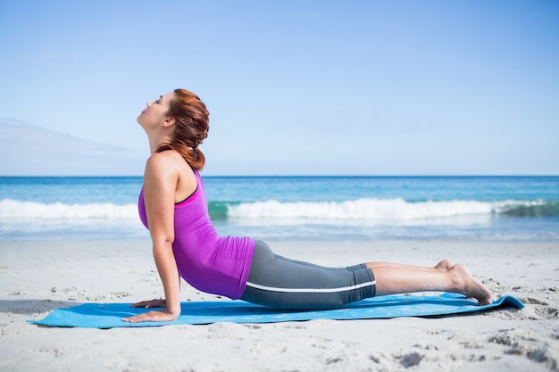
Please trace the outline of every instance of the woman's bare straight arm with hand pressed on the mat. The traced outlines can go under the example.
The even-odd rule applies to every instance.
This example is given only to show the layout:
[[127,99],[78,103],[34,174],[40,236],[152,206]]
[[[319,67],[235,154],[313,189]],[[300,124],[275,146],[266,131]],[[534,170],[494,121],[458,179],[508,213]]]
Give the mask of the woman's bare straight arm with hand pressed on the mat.
[[147,161],[144,175],[144,202],[147,224],[153,242],[155,266],[163,282],[167,308],[154,310],[124,321],[171,321],[180,315],[180,283],[177,263],[172,252],[174,241],[175,191],[179,169],[171,152],[154,153]]

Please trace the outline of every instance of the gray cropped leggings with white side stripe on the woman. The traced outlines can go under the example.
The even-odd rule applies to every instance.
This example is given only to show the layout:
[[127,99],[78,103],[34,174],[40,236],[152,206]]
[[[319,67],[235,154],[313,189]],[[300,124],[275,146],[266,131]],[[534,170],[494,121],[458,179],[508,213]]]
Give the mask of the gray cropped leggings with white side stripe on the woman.
[[289,260],[256,241],[242,300],[280,309],[333,309],[375,295],[365,264],[326,268]]

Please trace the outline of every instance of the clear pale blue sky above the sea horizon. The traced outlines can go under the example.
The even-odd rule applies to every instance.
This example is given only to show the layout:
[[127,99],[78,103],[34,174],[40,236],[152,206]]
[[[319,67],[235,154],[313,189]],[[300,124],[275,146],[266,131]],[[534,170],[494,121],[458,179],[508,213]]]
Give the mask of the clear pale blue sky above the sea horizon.
[[0,176],[141,176],[177,87],[206,175],[559,174],[555,0],[3,0]]

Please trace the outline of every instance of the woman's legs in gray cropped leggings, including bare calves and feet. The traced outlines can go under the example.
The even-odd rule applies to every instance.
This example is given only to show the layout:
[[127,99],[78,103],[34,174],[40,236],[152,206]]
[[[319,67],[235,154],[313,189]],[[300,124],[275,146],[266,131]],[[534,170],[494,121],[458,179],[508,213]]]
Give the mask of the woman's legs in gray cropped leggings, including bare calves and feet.
[[[355,285],[356,291],[344,289]],[[463,264],[450,260],[433,268],[369,262],[331,269],[277,256],[263,242],[256,244],[242,298],[272,307],[310,309],[337,307],[373,295],[428,291],[462,293],[475,297],[480,305],[493,300],[491,291]]]

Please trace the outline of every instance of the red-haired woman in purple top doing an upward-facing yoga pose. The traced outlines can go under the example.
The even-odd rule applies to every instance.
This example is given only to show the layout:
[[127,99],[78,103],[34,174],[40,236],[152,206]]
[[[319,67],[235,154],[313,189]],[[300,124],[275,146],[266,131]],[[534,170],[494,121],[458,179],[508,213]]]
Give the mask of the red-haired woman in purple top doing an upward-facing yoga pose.
[[283,309],[329,309],[374,295],[444,291],[492,302],[492,293],[463,264],[443,260],[434,268],[368,262],[324,268],[275,255],[249,237],[221,237],[207,212],[198,146],[209,129],[209,112],[197,95],[176,89],[148,102],[138,116],[151,156],[139,197],[149,229],[164,300],[132,306],[161,307],[128,322],[172,321],[180,314],[179,277],[206,293]]

